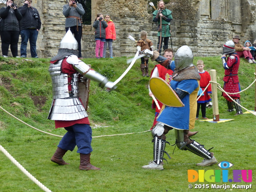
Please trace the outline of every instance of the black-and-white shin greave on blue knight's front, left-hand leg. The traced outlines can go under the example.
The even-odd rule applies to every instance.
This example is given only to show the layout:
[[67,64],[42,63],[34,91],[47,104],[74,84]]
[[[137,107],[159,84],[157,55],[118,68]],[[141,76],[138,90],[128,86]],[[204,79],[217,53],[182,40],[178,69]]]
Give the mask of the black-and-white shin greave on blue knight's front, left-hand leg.
[[154,142],[154,162],[156,164],[159,165],[163,162],[163,160],[166,160],[164,158],[164,153],[166,153],[166,155],[170,158],[169,154],[165,151],[166,140],[162,140],[155,136],[152,142]]

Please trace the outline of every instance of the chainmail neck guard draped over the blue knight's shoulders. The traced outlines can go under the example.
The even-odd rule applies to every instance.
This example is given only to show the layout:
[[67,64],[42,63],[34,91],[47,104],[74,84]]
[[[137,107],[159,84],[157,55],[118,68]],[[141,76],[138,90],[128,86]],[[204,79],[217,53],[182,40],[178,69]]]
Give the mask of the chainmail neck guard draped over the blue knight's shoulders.
[[195,66],[188,66],[180,71],[175,69],[172,75],[172,79],[175,81],[182,81],[187,79],[200,80],[200,78],[201,77]]

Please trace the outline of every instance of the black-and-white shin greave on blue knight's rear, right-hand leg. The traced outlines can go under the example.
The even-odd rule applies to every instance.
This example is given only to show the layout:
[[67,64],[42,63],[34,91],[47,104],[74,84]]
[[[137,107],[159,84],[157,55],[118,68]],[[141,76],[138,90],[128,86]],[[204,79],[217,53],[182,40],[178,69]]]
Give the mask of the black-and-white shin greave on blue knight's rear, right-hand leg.
[[204,159],[211,159],[212,154],[204,148],[203,145],[200,145],[198,142],[194,141],[191,144],[187,145],[185,150],[189,150],[192,153],[204,158]]

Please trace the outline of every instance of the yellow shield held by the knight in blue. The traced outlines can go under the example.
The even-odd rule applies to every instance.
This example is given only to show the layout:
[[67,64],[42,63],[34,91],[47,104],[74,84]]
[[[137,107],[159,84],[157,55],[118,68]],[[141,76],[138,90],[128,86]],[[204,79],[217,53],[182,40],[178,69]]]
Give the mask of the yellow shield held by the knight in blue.
[[149,87],[154,96],[163,104],[170,107],[184,107],[184,104],[172,90],[170,85],[160,77],[152,77]]

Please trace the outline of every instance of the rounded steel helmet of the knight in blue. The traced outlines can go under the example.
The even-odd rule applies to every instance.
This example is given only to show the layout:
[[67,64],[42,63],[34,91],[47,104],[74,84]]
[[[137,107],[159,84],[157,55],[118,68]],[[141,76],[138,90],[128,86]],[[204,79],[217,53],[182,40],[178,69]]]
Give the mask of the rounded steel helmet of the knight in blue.
[[193,52],[188,46],[180,47],[174,55],[176,70],[180,71],[188,66],[193,66],[193,58]]

